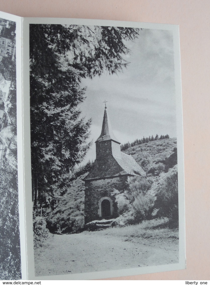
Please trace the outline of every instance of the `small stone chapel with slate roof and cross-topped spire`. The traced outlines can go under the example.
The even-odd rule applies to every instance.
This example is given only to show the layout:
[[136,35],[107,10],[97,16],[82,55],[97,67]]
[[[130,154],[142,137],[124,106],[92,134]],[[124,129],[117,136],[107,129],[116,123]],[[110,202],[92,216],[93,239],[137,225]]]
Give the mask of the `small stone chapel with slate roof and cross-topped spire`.
[[[106,103],[105,103],[106,104]],[[114,136],[105,105],[102,131],[96,144],[96,160],[83,179],[85,181],[85,224],[118,217],[118,206],[113,192],[123,193],[129,179],[146,176],[131,155],[121,152]]]

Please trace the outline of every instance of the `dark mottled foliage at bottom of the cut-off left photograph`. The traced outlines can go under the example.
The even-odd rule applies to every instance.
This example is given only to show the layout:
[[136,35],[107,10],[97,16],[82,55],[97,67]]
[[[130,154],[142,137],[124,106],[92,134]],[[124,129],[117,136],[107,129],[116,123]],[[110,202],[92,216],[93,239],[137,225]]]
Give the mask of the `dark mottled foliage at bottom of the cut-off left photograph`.
[[3,161],[0,173],[0,279],[21,279],[17,169]]

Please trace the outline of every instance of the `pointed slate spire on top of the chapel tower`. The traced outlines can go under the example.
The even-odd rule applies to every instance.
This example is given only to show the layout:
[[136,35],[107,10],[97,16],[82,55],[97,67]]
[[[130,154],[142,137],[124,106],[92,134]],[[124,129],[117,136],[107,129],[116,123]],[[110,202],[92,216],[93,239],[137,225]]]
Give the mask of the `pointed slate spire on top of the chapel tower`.
[[102,130],[101,130],[101,134],[100,137],[96,140],[96,142],[99,141],[108,141],[108,140],[112,140],[115,141],[116,143],[120,143],[116,137],[114,136],[113,132],[112,132],[112,127],[109,121],[109,117],[108,117],[108,113],[107,113],[107,108],[105,106],[105,110],[104,110],[104,119],[103,119],[103,123],[102,123]]

